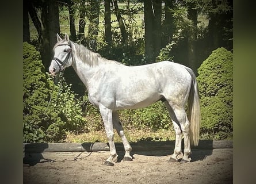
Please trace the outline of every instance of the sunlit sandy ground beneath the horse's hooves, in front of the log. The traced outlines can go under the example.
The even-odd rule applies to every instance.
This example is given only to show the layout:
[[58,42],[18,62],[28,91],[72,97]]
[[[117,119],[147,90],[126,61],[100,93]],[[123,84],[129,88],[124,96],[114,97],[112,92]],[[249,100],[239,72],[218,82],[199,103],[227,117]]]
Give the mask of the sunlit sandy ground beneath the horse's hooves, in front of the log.
[[192,162],[169,163],[171,151],[132,152],[114,166],[102,152],[24,153],[24,183],[232,183],[233,149],[192,150]]

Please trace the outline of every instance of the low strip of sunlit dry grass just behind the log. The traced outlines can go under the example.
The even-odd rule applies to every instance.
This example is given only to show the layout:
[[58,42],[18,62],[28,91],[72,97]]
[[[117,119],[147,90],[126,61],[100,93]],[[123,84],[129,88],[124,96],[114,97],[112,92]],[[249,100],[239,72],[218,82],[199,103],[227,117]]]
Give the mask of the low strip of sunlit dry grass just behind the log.
[[[128,130],[125,132],[127,140],[132,142],[137,141],[167,141],[175,140],[174,131],[159,130],[152,132],[150,130]],[[74,133],[68,133],[66,137],[67,143],[95,143],[102,142],[107,143],[108,139],[106,138],[105,131],[94,131],[88,133],[81,133],[75,135]],[[121,143],[121,139],[116,131],[114,131],[114,141],[116,143]]]

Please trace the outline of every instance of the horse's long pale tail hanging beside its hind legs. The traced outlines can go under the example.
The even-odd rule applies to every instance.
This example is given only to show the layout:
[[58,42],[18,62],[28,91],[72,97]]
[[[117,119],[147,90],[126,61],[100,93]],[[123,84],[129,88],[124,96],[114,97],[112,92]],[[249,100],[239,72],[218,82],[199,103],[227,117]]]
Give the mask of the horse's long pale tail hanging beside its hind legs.
[[198,93],[198,85],[196,75],[192,69],[186,67],[192,76],[192,84],[190,87],[188,98],[188,119],[190,121],[190,144],[197,146],[199,142],[199,128],[201,124],[200,98]]

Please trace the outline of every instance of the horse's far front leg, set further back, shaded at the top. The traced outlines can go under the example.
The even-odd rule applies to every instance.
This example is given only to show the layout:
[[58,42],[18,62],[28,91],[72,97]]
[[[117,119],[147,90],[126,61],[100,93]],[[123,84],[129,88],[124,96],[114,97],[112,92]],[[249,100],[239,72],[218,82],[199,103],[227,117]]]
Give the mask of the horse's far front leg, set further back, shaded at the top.
[[116,129],[124,144],[125,155],[123,160],[131,161],[132,156],[130,155],[130,152],[132,151],[132,147],[124,135],[124,128],[119,120],[119,114],[116,111],[113,111],[113,124],[114,128]]

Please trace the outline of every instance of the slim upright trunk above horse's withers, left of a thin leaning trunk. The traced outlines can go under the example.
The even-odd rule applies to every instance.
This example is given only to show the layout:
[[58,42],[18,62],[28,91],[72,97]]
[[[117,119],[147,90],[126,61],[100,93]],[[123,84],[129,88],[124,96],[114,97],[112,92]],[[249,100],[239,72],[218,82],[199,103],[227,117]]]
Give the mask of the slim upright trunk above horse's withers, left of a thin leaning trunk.
[[112,44],[112,33],[111,33],[111,11],[110,11],[110,0],[105,0],[105,40],[108,45]]

